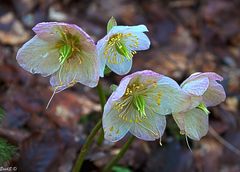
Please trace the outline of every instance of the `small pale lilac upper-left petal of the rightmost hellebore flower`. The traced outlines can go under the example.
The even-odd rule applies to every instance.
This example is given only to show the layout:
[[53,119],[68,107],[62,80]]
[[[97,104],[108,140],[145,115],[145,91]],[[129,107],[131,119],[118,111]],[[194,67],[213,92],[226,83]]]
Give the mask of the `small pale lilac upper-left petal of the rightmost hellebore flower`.
[[181,87],[184,91],[195,95],[195,96],[202,96],[204,92],[208,89],[209,86],[209,79],[204,75],[200,75],[194,79],[181,84]]

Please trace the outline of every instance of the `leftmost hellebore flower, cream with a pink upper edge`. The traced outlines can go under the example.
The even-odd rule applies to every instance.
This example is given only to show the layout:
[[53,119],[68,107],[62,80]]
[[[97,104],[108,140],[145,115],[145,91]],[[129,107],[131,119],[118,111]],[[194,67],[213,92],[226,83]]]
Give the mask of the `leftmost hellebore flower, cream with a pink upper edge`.
[[95,87],[99,80],[96,46],[90,36],[74,24],[37,24],[36,35],[17,53],[19,65],[35,74],[51,76],[56,92],[79,82]]

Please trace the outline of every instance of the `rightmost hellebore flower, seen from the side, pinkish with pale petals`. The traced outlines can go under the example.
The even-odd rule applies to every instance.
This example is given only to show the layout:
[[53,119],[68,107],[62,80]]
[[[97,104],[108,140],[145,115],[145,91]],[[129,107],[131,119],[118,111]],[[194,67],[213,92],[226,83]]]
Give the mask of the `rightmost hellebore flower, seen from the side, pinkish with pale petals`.
[[217,82],[222,80],[213,72],[194,73],[181,84],[183,91],[191,96],[189,108],[173,114],[181,134],[193,140],[200,140],[207,134],[207,107],[216,106],[226,98],[224,88]]

